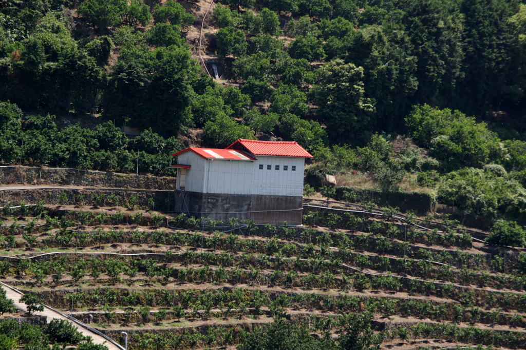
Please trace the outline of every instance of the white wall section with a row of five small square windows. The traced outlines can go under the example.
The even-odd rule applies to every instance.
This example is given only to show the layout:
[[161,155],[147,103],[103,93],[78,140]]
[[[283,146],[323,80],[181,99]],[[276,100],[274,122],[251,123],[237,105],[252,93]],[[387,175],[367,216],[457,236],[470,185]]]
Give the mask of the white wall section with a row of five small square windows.
[[[252,176],[252,194],[277,196],[303,196],[303,172],[305,158],[256,156],[254,175]],[[259,169],[259,165],[263,169]],[[267,166],[271,169],[268,170]],[[276,170],[279,165],[279,170]],[[284,166],[287,170],[284,170]],[[292,166],[296,171],[292,171]]]

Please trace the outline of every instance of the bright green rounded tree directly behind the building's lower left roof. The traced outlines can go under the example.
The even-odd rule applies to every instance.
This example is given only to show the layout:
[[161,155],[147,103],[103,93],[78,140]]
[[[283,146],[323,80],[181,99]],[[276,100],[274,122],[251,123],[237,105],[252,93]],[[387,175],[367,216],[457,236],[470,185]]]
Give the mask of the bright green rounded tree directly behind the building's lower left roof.
[[205,124],[205,136],[208,144],[226,147],[238,139],[254,140],[254,132],[248,126],[240,125],[226,114],[218,114],[214,120]]

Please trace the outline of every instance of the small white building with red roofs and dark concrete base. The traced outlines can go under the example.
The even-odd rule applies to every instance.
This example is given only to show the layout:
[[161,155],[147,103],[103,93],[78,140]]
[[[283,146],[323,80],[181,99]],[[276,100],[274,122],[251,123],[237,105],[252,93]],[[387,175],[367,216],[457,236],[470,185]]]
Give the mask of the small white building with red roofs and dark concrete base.
[[189,147],[177,156],[179,211],[226,222],[301,225],[305,158],[297,142],[238,140],[226,149]]

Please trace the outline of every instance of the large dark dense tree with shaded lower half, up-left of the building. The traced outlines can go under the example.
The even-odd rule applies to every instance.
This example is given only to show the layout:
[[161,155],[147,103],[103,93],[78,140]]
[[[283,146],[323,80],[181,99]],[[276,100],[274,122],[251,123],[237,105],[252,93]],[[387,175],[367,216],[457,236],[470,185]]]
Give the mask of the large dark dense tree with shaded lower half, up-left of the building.
[[105,112],[163,135],[179,130],[190,101],[189,79],[200,68],[186,48],[125,46],[110,75]]

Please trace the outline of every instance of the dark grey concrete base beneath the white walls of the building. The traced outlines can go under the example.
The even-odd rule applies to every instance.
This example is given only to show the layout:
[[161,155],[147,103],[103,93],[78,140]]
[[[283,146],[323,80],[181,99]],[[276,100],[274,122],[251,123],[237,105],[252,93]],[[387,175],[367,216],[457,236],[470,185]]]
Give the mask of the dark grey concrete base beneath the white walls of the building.
[[[303,197],[229,195],[175,191],[176,211],[227,222],[252,219],[256,224],[301,225]],[[293,210],[299,209],[299,210]]]

